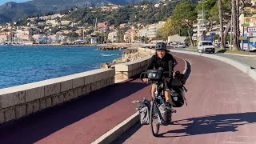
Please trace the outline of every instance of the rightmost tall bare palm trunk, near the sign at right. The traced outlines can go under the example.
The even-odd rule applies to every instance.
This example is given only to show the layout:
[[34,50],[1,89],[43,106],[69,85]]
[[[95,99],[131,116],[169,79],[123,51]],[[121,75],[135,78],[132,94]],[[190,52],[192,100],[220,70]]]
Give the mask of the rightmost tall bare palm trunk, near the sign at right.
[[233,48],[232,50],[238,50],[238,25],[237,25],[237,6],[236,0],[231,0],[231,7],[232,7],[232,17],[233,17],[233,34],[234,34],[234,41],[233,41]]

